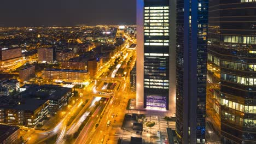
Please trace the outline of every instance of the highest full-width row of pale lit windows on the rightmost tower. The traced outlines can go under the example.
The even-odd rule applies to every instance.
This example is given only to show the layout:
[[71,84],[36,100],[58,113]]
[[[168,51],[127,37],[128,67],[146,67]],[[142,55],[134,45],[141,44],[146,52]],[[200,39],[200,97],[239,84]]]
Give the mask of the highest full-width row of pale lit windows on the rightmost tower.
[[224,35],[225,43],[256,44],[256,37]]

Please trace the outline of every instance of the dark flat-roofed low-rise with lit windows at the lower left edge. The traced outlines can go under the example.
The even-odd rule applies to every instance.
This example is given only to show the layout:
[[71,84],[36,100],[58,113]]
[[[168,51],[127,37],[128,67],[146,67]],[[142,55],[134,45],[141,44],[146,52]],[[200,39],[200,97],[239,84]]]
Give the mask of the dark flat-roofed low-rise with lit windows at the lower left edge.
[[0,123],[34,127],[48,115],[47,99],[5,98],[0,100]]

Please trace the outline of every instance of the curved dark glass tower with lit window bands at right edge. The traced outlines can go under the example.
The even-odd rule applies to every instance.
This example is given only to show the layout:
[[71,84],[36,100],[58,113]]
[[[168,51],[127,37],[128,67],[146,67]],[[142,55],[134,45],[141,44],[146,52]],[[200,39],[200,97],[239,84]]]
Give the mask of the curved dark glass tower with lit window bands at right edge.
[[208,71],[220,79],[214,101],[222,143],[256,143],[256,1],[209,5]]

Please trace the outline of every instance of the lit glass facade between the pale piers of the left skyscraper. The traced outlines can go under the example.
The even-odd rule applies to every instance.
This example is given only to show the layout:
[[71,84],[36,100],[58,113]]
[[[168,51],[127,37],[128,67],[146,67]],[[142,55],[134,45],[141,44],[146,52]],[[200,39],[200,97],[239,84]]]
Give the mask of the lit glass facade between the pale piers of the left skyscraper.
[[144,1],[144,108],[168,110],[169,3]]

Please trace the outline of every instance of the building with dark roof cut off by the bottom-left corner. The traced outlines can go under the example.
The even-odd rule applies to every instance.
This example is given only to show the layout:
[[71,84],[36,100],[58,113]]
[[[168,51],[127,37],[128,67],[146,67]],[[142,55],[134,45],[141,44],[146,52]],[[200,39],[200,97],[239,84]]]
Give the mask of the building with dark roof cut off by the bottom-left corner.
[[19,133],[19,127],[0,124],[0,143],[17,144]]

